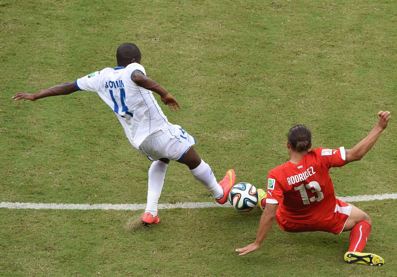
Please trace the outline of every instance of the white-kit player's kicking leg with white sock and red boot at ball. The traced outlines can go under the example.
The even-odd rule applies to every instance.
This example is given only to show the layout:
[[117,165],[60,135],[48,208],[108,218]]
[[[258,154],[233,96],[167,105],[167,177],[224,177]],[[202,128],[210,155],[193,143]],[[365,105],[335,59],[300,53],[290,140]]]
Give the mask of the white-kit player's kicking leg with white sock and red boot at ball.
[[193,146],[186,152],[186,154],[177,162],[187,165],[193,177],[200,181],[219,204],[224,204],[227,200],[227,194],[233,187],[235,182],[235,173],[233,169],[229,169],[222,181],[217,183],[211,167],[198,156]]

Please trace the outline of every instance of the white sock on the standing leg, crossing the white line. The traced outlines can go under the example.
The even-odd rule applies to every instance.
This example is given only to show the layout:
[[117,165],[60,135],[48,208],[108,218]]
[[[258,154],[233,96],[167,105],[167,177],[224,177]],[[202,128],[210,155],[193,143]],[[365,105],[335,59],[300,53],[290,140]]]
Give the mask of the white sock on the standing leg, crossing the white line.
[[152,162],[149,168],[148,198],[145,213],[157,216],[157,203],[164,185],[168,164],[160,160]]

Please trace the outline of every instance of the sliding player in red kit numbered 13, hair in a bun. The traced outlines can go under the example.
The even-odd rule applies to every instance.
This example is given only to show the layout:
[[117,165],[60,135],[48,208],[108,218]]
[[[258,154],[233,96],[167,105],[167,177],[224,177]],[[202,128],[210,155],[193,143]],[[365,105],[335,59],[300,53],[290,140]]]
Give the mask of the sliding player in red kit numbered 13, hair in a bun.
[[[289,161],[270,170],[267,192],[258,189],[261,210],[258,234],[254,243],[236,249],[241,255],[259,249],[274,219],[287,232],[324,231],[335,235],[350,232],[350,246],[345,254],[349,264],[383,265],[384,259],[362,253],[371,232],[371,218],[352,204],[335,198],[331,167],[341,167],[361,160],[387,127],[390,112],[380,111],[378,123],[367,137],[352,149],[316,148],[311,151],[312,133],[304,125],[289,130]],[[266,205],[266,209],[264,209]]]

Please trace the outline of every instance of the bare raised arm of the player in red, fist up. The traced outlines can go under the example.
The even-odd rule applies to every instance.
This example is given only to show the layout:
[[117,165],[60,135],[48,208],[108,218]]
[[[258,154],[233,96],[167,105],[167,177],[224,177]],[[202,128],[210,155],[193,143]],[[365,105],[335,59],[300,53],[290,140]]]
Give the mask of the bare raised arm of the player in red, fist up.
[[359,161],[364,155],[374,146],[376,140],[382,134],[382,131],[386,129],[387,123],[390,120],[390,112],[380,111],[378,112],[378,123],[371,130],[371,132],[363,140],[358,142],[352,149],[346,150],[346,164],[349,162]]

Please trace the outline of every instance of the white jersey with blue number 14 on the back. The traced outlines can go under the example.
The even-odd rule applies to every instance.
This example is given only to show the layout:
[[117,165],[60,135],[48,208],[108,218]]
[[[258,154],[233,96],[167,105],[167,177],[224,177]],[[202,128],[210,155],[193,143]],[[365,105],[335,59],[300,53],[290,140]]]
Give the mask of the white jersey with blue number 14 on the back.
[[76,88],[98,93],[100,98],[116,113],[125,135],[135,147],[150,134],[170,127],[167,117],[158,106],[150,90],[139,87],[132,79],[132,73],[145,68],[139,63],[127,67],[106,67],[75,81]]

